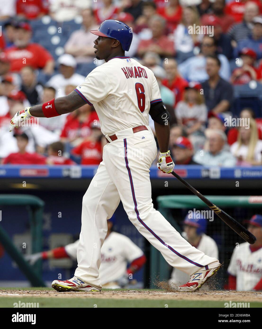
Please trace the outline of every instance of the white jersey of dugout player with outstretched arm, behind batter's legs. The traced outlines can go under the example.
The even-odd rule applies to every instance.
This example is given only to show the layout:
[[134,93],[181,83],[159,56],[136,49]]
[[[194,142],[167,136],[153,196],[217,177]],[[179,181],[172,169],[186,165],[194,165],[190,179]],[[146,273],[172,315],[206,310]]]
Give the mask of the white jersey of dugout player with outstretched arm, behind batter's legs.
[[[67,244],[65,251],[76,260],[79,240]],[[101,248],[101,265],[99,276],[102,286],[118,280],[126,272],[127,263],[143,256],[143,251],[128,237],[111,232]]]

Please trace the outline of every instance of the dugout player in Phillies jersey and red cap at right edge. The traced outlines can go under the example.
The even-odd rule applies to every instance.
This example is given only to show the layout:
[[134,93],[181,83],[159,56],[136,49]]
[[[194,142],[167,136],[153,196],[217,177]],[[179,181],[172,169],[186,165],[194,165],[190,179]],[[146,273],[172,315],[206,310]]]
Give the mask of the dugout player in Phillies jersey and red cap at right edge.
[[228,266],[228,287],[230,290],[262,290],[262,216],[253,215],[248,222],[248,230],[256,237],[256,242],[237,245]]

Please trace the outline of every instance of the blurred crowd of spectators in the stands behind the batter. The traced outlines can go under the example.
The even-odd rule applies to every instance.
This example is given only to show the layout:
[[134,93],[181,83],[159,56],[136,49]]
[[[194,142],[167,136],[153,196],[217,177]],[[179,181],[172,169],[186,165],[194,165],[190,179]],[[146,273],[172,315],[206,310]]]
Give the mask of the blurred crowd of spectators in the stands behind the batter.
[[17,111],[69,94],[101,65],[89,31],[118,19],[133,29],[126,56],[157,78],[175,163],[262,165],[262,0],[0,3],[2,164],[100,163],[106,140],[89,104],[8,127]]

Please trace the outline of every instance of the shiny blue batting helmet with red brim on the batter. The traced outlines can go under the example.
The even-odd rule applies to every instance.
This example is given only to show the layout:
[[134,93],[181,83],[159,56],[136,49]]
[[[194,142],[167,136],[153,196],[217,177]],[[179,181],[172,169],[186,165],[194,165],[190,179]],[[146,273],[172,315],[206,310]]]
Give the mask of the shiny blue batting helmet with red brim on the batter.
[[106,19],[101,23],[98,30],[90,32],[100,37],[118,40],[125,51],[129,50],[133,39],[132,29],[125,23],[115,19]]

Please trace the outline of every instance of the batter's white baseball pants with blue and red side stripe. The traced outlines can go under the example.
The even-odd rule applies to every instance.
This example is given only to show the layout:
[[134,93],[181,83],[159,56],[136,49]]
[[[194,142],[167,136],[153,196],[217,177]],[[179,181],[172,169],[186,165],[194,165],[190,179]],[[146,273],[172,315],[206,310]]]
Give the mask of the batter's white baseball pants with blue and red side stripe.
[[151,129],[147,128],[137,133],[132,129],[116,132],[118,139],[104,146],[103,161],[83,197],[75,276],[97,288],[101,288],[100,249],[107,234],[107,219],[120,200],[129,220],[171,266],[191,275],[202,267],[219,265],[216,258],[192,247],[154,209],[149,168],[157,147]]

